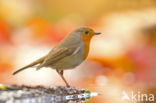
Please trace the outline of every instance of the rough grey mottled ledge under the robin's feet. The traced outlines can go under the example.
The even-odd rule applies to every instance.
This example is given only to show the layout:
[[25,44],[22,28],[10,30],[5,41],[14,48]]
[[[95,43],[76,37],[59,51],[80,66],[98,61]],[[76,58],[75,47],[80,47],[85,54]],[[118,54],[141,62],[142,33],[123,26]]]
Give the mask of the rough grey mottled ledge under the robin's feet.
[[17,86],[0,84],[0,103],[78,103],[98,93],[63,86]]

